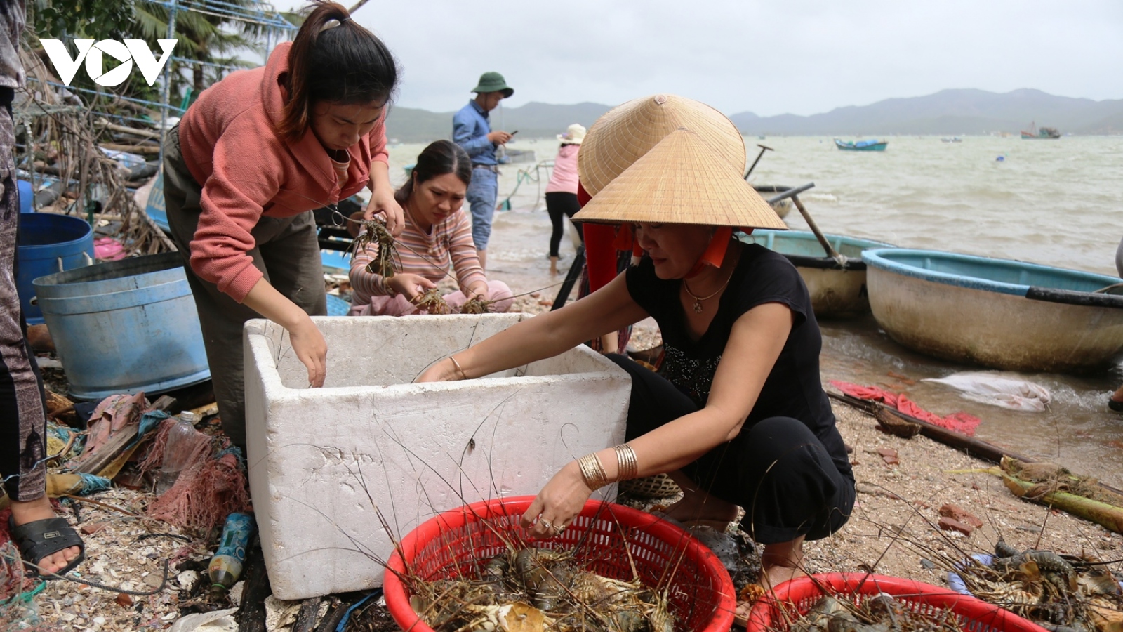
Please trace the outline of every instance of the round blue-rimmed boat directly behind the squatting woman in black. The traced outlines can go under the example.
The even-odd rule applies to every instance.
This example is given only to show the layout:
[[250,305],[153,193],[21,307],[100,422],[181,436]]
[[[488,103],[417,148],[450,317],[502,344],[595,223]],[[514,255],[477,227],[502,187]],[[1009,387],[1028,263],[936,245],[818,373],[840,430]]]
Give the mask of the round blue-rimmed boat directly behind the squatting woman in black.
[[853,318],[869,314],[862,251],[893,246],[843,235],[824,234],[823,237],[842,255],[842,261],[827,256],[822,244],[810,231],[754,231],[750,235],[738,234],[742,242],[776,251],[795,265],[811,294],[811,308],[816,318]]

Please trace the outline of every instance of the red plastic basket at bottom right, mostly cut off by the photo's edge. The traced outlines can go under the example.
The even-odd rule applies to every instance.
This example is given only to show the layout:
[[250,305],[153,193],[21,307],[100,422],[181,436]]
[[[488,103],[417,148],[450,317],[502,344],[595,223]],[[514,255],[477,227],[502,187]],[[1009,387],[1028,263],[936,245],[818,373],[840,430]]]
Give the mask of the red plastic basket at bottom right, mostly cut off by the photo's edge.
[[912,612],[943,616],[950,611],[965,632],[1046,632],[1016,614],[955,590],[884,575],[834,572],[793,579],[752,606],[746,632],[784,632],[825,594],[858,604],[864,596],[893,595]]

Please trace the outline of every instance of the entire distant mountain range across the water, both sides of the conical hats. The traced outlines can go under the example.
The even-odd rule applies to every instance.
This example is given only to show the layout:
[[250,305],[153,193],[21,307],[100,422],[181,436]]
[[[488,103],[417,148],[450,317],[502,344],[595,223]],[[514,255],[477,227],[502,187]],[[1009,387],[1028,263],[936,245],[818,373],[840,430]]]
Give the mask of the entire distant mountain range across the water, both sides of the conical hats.
[[[492,127],[519,130],[520,138],[550,138],[572,123],[590,127],[611,106],[556,106],[529,102],[493,111]],[[403,143],[450,138],[454,112],[393,108],[386,134]],[[746,111],[730,116],[748,135],[964,135],[1017,134],[1031,123],[1056,127],[1061,134],[1123,134],[1123,99],[1093,101],[1057,97],[1040,90],[999,94],[985,90],[942,90],[924,97],[886,99],[869,106],[848,106],[811,116],[784,114],[761,117]]]

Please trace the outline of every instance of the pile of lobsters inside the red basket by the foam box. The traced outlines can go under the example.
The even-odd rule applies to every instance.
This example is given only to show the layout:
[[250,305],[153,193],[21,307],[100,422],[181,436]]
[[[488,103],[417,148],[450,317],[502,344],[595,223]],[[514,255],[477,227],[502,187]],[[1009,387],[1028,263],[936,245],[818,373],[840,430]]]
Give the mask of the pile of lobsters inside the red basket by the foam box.
[[674,630],[663,595],[639,579],[586,570],[573,551],[512,549],[486,560],[478,577],[411,584],[410,603],[437,632]]

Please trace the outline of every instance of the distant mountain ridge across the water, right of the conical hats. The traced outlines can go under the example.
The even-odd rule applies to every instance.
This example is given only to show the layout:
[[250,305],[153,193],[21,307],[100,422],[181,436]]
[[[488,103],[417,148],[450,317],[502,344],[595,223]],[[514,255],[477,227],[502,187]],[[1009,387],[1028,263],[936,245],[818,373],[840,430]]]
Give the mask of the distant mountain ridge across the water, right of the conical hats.
[[1119,134],[1123,132],[1123,100],[1072,99],[1030,89],[1004,94],[942,90],[811,116],[741,112],[730,119],[743,134],[765,135],[1016,134],[1031,123],[1062,134]]

